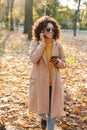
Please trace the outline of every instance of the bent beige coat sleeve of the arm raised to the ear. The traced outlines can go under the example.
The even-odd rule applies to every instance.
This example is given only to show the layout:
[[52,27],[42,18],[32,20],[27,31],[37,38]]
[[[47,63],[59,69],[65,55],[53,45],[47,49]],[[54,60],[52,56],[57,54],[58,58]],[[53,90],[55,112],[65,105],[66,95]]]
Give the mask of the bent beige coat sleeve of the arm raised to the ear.
[[45,49],[45,43],[32,40],[29,47],[29,57],[32,63],[37,63]]

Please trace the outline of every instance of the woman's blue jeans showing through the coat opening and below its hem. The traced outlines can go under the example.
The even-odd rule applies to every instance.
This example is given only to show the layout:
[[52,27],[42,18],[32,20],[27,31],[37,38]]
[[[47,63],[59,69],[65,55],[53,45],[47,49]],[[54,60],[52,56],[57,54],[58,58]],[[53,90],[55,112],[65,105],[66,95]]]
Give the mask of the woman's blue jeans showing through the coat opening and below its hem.
[[[55,126],[55,118],[51,118],[51,92],[52,92],[52,86],[49,88],[49,114],[48,114],[48,130],[54,130]],[[46,119],[46,115],[42,114],[42,118]]]

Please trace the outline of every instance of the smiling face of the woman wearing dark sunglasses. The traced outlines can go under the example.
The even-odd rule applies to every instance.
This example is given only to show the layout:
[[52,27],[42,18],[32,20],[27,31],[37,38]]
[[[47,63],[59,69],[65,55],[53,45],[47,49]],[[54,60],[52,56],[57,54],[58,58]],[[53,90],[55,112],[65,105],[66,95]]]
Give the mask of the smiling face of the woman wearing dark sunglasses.
[[52,23],[48,23],[47,27],[44,30],[44,36],[47,38],[53,38],[54,35],[54,26]]

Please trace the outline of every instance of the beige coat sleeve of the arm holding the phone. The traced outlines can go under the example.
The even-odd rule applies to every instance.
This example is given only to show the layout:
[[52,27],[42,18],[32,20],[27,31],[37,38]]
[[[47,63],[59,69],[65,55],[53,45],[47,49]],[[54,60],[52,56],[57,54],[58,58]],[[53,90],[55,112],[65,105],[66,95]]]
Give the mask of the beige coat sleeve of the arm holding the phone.
[[59,63],[56,65],[56,67],[59,69],[64,69],[66,68],[66,61],[64,50],[61,44],[58,45],[58,50],[59,50],[59,59],[58,59]]

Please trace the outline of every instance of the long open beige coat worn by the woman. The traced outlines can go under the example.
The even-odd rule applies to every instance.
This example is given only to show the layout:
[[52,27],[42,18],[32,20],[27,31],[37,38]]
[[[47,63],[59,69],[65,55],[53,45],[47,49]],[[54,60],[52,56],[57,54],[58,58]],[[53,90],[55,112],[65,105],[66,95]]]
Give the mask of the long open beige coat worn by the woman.
[[[49,113],[49,71],[45,55],[45,44],[41,41],[32,41],[29,56],[33,68],[29,80],[29,110],[38,114]],[[53,41],[52,55],[59,56],[60,60],[55,67],[52,65],[52,100],[51,117],[63,116],[64,93],[59,69],[65,68],[65,55],[60,43]]]

